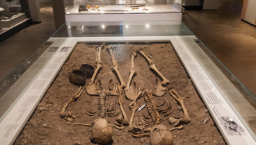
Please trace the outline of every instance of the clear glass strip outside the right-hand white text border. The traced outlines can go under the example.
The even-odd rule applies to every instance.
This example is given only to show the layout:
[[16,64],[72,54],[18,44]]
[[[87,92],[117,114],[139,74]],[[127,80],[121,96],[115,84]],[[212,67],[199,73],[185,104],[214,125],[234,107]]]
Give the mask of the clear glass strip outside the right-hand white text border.
[[195,35],[182,36],[182,40],[243,124],[256,137],[256,96]]

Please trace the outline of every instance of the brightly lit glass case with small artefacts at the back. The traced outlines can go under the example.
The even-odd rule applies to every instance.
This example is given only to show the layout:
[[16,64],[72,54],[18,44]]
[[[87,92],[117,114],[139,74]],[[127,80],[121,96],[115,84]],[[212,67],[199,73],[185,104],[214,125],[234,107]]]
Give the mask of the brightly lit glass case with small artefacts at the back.
[[182,0],[65,0],[66,14],[181,12]]

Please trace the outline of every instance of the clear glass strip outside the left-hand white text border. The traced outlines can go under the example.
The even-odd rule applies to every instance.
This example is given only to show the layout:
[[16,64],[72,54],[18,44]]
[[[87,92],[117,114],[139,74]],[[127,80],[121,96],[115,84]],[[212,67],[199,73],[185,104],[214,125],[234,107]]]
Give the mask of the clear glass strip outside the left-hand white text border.
[[45,42],[0,83],[0,121],[61,44]]

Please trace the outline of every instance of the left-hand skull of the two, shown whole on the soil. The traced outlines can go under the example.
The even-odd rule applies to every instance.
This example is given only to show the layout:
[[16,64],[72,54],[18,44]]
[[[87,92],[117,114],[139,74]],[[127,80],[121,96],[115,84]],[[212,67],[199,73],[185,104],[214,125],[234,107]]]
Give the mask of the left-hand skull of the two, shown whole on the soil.
[[99,144],[106,144],[111,141],[113,135],[113,126],[109,121],[103,118],[98,118],[94,121],[92,126],[93,141]]

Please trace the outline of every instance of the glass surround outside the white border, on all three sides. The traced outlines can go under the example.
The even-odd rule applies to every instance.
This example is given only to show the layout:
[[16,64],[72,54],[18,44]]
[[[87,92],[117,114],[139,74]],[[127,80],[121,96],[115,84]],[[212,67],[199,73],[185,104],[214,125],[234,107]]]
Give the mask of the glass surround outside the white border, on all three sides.
[[[253,136],[256,133],[256,97],[225,67],[207,47],[180,21],[148,22],[69,22],[51,37],[125,37],[180,36],[209,78],[215,83],[227,103]],[[1,115],[22,94],[26,86],[40,72],[60,44],[43,44],[0,85]],[[42,58],[41,58],[42,57]],[[32,64],[33,63],[33,64]],[[20,76],[19,76],[20,75]]]

